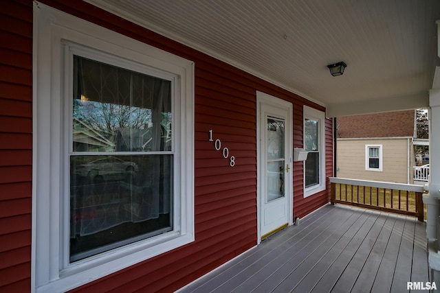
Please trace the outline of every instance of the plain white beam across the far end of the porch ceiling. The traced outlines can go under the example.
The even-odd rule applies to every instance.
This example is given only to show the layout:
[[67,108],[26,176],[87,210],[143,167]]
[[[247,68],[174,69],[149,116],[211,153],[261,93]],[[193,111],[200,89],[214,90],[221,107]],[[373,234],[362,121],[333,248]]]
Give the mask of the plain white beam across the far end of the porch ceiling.
[[327,117],[340,117],[369,113],[392,112],[399,110],[412,110],[427,108],[429,106],[429,93],[419,93],[386,99],[369,99],[362,101],[344,102],[327,105]]

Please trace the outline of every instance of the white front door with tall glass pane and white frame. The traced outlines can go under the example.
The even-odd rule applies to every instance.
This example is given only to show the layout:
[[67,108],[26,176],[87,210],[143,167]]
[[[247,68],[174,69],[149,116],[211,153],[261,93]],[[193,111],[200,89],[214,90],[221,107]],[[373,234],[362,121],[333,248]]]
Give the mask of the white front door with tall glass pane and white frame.
[[293,223],[292,103],[257,92],[259,239]]

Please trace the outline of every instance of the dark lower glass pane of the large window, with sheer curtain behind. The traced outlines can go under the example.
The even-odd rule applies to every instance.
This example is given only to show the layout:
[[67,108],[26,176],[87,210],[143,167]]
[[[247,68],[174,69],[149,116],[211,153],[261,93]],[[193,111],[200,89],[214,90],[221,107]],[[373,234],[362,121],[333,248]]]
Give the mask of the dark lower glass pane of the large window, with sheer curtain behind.
[[173,229],[173,155],[70,156],[70,261]]

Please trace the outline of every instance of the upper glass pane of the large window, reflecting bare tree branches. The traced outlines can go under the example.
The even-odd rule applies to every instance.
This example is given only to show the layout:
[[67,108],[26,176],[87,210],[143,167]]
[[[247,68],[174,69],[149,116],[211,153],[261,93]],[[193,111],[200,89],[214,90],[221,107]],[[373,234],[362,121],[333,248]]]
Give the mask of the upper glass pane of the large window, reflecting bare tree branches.
[[74,152],[171,150],[171,82],[74,56]]

